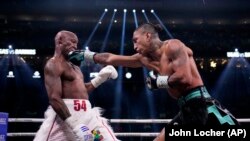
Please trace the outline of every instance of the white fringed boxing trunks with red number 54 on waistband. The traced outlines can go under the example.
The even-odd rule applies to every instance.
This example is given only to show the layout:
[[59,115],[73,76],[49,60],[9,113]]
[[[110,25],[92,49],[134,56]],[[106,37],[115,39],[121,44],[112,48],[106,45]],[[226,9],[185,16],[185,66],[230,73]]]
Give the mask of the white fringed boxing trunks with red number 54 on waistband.
[[[92,108],[85,99],[64,99],[71,116],[81,119],[90,134],[84,141],[119,141],[108,125],[107,119],[101,117],[101,109]],[[34,141],[75,141],[75,135],[51,106],[45,112],[45,120],[38,130]]]

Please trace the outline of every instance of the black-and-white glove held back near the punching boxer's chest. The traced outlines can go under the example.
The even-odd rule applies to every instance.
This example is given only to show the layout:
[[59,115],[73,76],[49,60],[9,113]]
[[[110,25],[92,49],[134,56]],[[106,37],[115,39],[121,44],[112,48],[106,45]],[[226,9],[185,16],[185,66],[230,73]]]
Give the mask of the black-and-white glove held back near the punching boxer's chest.
[[152,72],[146,78],[146,85],[149,89],[169,88],[168,76],[154,75]]

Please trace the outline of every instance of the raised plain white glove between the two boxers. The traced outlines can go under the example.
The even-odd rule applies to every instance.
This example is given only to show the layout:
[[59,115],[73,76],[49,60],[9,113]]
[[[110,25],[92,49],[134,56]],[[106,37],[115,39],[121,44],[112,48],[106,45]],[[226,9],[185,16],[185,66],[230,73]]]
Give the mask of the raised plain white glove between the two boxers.
[[101,69],[101,71],[97,74],[97,76],[91,80],[92,85],[97,88],[103,82],[107,81],[108,79],[116,79],[118,77],[118,73],[116,69],[108,65]]

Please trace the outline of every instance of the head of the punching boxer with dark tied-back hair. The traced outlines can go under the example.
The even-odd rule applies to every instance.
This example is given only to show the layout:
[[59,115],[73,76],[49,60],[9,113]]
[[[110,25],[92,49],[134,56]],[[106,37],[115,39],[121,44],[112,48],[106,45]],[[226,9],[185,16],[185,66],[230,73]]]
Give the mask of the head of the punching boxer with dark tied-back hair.
[[133,34],[134,49],[142,55],[146,55],[153,51],[154,49],[151,47],[156,39],[159,40],[158,32],[161,30],[162,28],[160,25],[151,23],[139,26]]

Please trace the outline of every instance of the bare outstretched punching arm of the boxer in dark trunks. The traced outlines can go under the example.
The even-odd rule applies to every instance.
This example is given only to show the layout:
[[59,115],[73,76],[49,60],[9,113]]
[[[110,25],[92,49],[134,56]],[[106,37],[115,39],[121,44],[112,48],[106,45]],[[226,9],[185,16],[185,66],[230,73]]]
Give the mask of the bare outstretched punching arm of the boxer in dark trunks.
[[140,62],[139,54],[134,54],[132,56],[116,55],[112,53],[97,53],[94,56],[95,63],[114,65],[114,66],[124,66],[131,68],[142,67]]

